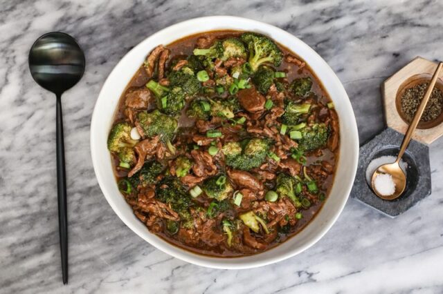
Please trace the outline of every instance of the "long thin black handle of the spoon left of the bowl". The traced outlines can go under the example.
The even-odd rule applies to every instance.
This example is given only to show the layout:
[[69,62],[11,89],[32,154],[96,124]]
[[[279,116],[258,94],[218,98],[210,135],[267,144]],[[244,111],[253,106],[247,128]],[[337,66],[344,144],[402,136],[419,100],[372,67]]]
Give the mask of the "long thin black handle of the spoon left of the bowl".
[[57,199],[60,253],[62,255],[63,284],[68,284],[68,212],[66,209],[66,173],[64,171],[64,139],[62,95],[57,94]]

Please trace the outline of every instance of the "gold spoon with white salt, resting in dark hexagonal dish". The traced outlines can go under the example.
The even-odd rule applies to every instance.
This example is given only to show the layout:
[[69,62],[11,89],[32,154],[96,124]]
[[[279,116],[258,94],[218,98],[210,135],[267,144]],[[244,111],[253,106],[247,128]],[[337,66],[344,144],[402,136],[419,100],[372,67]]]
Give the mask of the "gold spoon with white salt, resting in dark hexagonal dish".
[[[413,121],[410,122],[408,130],[406,131],[406,135],[404,136],[403,142],[401,142],[401,147],[399,151],[399,155],[397,155],[397,159],[392,164],[383,164],[377,168],[372,174],[371,186],[374,193],[377,194],[381,199],[393,200],[397,199],[401,193],[403,193],[404,188],[406,187],[406,175],[404,171],[400,168],[399,162],[401,157],[404,155],[404,151],[408,147],[410,137],[412,137],[415,128],[417,128],[417,124],[422,118],[422,114],[426,104],[428,103],[429,97],[431,97],[432,90],[434,89],[435,83],[437,82],[438,75],[440,74],[440,70],[442,69],[443,62],[438,63],[437,69],[434,72],[434,75],[431,79],[431,83],[429,83],[428,89],[426,90],[426,94],[424,95],[422,102],[418,106],[417,112],[415,112]],[[395,192],[392,195],[382,195],[377,191],[375,187],[375,178],[379,175],[388,174],[392,176],[392,180],[395,184]]]

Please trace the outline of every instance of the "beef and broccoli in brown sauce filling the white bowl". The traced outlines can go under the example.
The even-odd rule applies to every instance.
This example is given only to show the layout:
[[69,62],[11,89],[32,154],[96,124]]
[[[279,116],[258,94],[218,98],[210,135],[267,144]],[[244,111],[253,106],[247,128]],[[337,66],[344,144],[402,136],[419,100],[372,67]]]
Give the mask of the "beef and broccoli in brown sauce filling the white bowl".
[[309,66],[269,37],[213,31],[159,45],[108,139],[118,187],[147,228],[189,251],[266,251],[320,210],[338,117]]

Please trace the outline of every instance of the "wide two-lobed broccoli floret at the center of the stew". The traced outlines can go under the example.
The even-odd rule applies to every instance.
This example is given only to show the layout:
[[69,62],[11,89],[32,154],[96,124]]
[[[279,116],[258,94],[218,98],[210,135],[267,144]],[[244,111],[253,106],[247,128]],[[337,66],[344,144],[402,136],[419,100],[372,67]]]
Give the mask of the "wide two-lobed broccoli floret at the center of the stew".
[[243,148],[237,142],[223,146],[221,151],[226,157],[226,165],[239,170],[251,170],[262,165],[269,151],[269,141],[254,138]]

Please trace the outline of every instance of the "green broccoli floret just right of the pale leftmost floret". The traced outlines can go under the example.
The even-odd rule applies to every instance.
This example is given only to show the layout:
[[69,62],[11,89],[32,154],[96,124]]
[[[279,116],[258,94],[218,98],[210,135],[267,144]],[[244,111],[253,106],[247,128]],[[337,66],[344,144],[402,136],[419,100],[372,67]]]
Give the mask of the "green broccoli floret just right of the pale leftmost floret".
[[144,137],[152,138],[160,135],[163,142],[171,141],[177,129],[177,120],[164,115],[157,109],[152,112],[138,112],[137,121],[143,130]]

